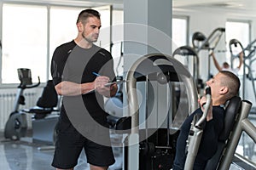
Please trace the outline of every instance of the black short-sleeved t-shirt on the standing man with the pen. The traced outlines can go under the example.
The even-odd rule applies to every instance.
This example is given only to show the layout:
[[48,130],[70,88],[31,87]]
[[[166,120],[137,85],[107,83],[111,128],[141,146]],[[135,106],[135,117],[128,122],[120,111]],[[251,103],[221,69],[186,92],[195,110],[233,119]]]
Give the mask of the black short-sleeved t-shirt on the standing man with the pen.
[[[62,81],[84,83],[93,82],[96,72],[102,76],[107,76],[110,80],[115,79],[113,72],[113,59],[111,54],[96,45],[91,48],[80,48],[74,41],[67,42],[55,49],[51,61],[51,75],[54,84]],[[78,96],[76,96],[78,97]],[[65,98],[76,98],[67,97]],[[81,96],[79,96],[81,98]],[[84,105],[90,116],[99,120],[104,120],[107,114],[103,111],[103,97],[97,93],[82,95]],[[61,115],[67,121],[65,103],[62,103]],[[75,105],[75,104],[74,104]]]

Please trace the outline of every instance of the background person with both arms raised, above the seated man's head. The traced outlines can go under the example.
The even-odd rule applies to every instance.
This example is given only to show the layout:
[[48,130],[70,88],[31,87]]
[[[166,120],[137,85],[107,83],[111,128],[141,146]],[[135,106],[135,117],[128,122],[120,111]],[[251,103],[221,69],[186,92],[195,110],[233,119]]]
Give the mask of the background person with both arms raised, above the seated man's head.
[[242,52],[239,53],[239,65],[236,68],[234,68],[234,69],[232,69],[230,67],[229,63],[227,63],[227,62],[224,62],[223,65],[220,66],[218,64],[218,61],[217,61],[217,59],[215,57],[215,54],[213,52],[210,54],[210,56],[212,56],[213,63],[214,63],[214,65],[215,65],[215,67],[217,68],[218,71],[231,71],[234,74],[236,74],[236,76],[238,75],[238,71],[240,70],[241,65],[243,63],[243,54],[242,54]]

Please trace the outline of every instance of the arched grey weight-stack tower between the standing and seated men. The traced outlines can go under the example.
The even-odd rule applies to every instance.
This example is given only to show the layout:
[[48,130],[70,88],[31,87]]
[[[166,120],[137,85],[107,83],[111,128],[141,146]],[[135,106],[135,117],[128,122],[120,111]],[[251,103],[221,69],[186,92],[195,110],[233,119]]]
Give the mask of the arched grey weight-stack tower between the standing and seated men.
[[[197,108],[197,90],[193,77],[189,71],[177,59],[163,54],[148,54],[138,59],[127,72],[126,94],[128,95],[128,112],[131,118],[131,132],[125,138],[124,147],[124,168],[134,169],[170,169],[172,167],[173,156],[175,155],[175,145],[173,142],[177,138],[177,130],[183,123],[189,112]],[[162,95],[162,100],[166,101],[166,111],[154,112],[154,102],[146,107],[145,128],[140,124],[139,112],[141,105],[137,99],[137,82],[145,81],[146,89],[149,92],[159,91],[154,87],[154,82],[166,87],[166,99]],[[179,90],[177,86],[179,84]],[[176,89],[176,90],[173,90]],[[147,91],[147,90],[146,90]],[[177,102],[177,94],[179,99]],[[152,93],[151,93],[152,94]],[[154,93],[153,93],[154,94]],[[173,98],[173,96],[175,96]],[[156,98],[156,96],[154,96]],[[154,98],[153,97],[153,98]],[[149,96],[146,92],[146,103]],[[163,99],[164,98],[164,99]],[[161,101],[160,104],[162,103]],[[176,105],[178,103],[178,105]],[[156,106],[156,107],[159,107]],[[157,115],[157,116],[154,116]],[[154,117],[158,117],[154,124]],[[166,127],[163,128],[162,126]]]

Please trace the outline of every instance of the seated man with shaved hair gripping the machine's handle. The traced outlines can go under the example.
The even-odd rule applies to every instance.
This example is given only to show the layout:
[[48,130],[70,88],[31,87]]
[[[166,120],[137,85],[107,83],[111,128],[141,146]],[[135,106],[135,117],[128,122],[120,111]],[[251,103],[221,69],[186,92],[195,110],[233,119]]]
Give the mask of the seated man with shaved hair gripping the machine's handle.
[[[207,86],[212,91],[212,102],[207,113],[207,122],[201,138],[198,154],[195,157],[194,170],[203,170],[218,147],[218,136],[224,126],[225,102],[238,94],[240,80],[230,71],[219,71],[215,77],[207,81]],[[189,136],[191,122],[195,114],[203,113],[202,105],[206,103],[206,97],[198,100],[201,108],[195,110],[183,122],[177,138],[176,156],[173,163],[173,170],[183,170],[186,161],[186,140]]]

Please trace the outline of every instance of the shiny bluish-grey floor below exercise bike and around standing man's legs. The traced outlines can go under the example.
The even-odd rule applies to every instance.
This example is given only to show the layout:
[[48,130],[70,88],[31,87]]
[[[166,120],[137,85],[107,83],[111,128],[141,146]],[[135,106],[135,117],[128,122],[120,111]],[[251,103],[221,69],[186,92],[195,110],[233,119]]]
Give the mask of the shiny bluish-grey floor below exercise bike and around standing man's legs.
[[[120,170],[122,167],[122,150],[114,147],[113,153],[116,162],[109,170]],[[54,155],[54,146],[32,143],[32,137],[28,135],[20,141],[4,139],[0,133],[0,165],[4,170],[53,170],[51,161]],[[79,163],[75,170],[90,170],[86,162],[84,151],[79,157]]]

